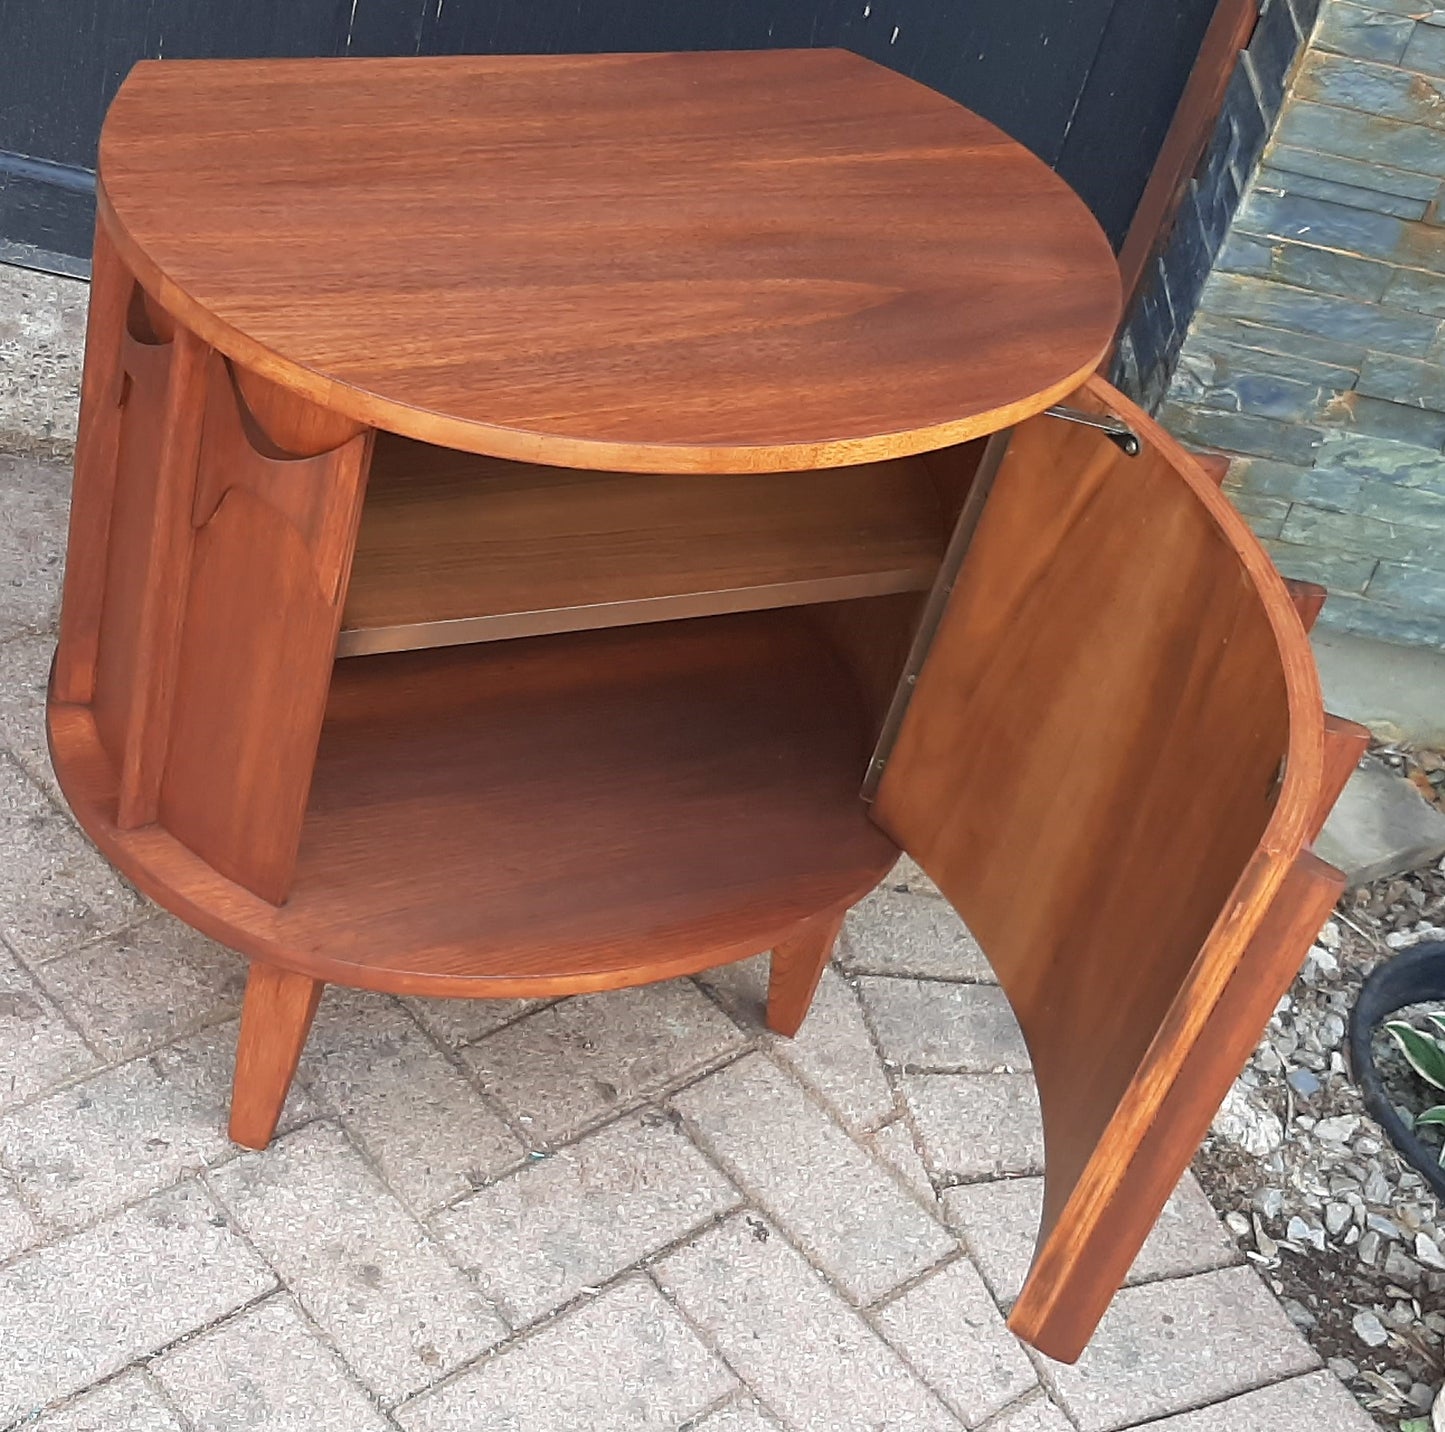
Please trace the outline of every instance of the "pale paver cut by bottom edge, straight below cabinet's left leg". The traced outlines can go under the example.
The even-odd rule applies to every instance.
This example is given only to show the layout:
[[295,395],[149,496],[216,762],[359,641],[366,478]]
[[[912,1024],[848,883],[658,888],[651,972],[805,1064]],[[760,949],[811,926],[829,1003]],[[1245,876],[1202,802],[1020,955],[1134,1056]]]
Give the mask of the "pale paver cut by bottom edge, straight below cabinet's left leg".
[[392,1426],[285,1296],[173,1348],[150,1371],[195,1432]]

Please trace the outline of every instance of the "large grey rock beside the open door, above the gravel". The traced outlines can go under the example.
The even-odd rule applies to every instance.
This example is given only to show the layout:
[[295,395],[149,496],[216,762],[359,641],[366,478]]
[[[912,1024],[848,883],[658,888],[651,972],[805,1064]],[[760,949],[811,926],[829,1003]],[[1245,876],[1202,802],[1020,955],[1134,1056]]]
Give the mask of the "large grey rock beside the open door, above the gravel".
[[1351,886],[1416,870],[1445,854],[1445,816],[1403,776],[1368,763],[1345,782],[1315,841]]

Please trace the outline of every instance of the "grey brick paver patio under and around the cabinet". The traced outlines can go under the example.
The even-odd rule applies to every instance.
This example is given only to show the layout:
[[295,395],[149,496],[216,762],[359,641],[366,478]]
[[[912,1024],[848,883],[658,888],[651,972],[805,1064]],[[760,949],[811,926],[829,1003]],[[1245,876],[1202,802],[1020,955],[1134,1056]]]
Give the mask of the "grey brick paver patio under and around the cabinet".
[[763,959],[331,990],[276,1143],[230,1144],[243,964],[126,889],[45,757],[66,487],[0,458],[0,1428],[1373,1426],[1192,1182],[1077,1367],[1006,1331],[1027,1053],[906,864],[793,1042]]

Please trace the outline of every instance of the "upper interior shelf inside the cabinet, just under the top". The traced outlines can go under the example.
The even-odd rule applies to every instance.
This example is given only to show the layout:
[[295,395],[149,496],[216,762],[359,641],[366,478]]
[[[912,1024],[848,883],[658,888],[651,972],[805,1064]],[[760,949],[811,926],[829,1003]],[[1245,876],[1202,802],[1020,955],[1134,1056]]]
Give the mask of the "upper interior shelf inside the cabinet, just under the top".
[[922,458],[655,475],[377,435],[341,656],[926,591]]

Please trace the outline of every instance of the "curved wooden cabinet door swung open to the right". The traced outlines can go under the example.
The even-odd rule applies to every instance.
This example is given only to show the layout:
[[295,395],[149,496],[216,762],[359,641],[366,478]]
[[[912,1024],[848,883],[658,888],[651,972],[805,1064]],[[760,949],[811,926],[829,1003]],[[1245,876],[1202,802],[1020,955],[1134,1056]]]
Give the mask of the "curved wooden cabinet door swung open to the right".
[[1027,1040],[1046,1192],[1010,1327],[1065,1361],[1338,896],[1308,844],[1360,751],[1198,464],[1101,380],[1069,403],[1142,451],[1014,431],[874,806]]

